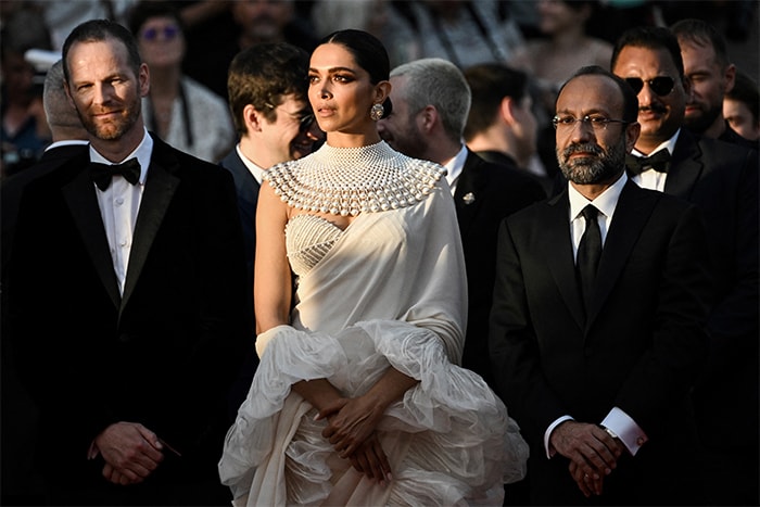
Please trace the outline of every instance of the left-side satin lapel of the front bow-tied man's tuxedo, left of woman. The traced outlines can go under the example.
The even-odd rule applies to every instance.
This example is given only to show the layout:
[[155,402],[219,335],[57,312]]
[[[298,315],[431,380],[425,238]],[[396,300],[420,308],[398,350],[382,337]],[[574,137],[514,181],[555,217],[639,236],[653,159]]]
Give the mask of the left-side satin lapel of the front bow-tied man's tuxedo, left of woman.
[[100,215],[96,188],[88,177],[87,170],[79,173],[76,178],[63,187],[62,191],[100,281],[111,297],[111,302],[115,307],[118,307],[122,300],[118,293],[118,280],[114,272],[111,248]]

